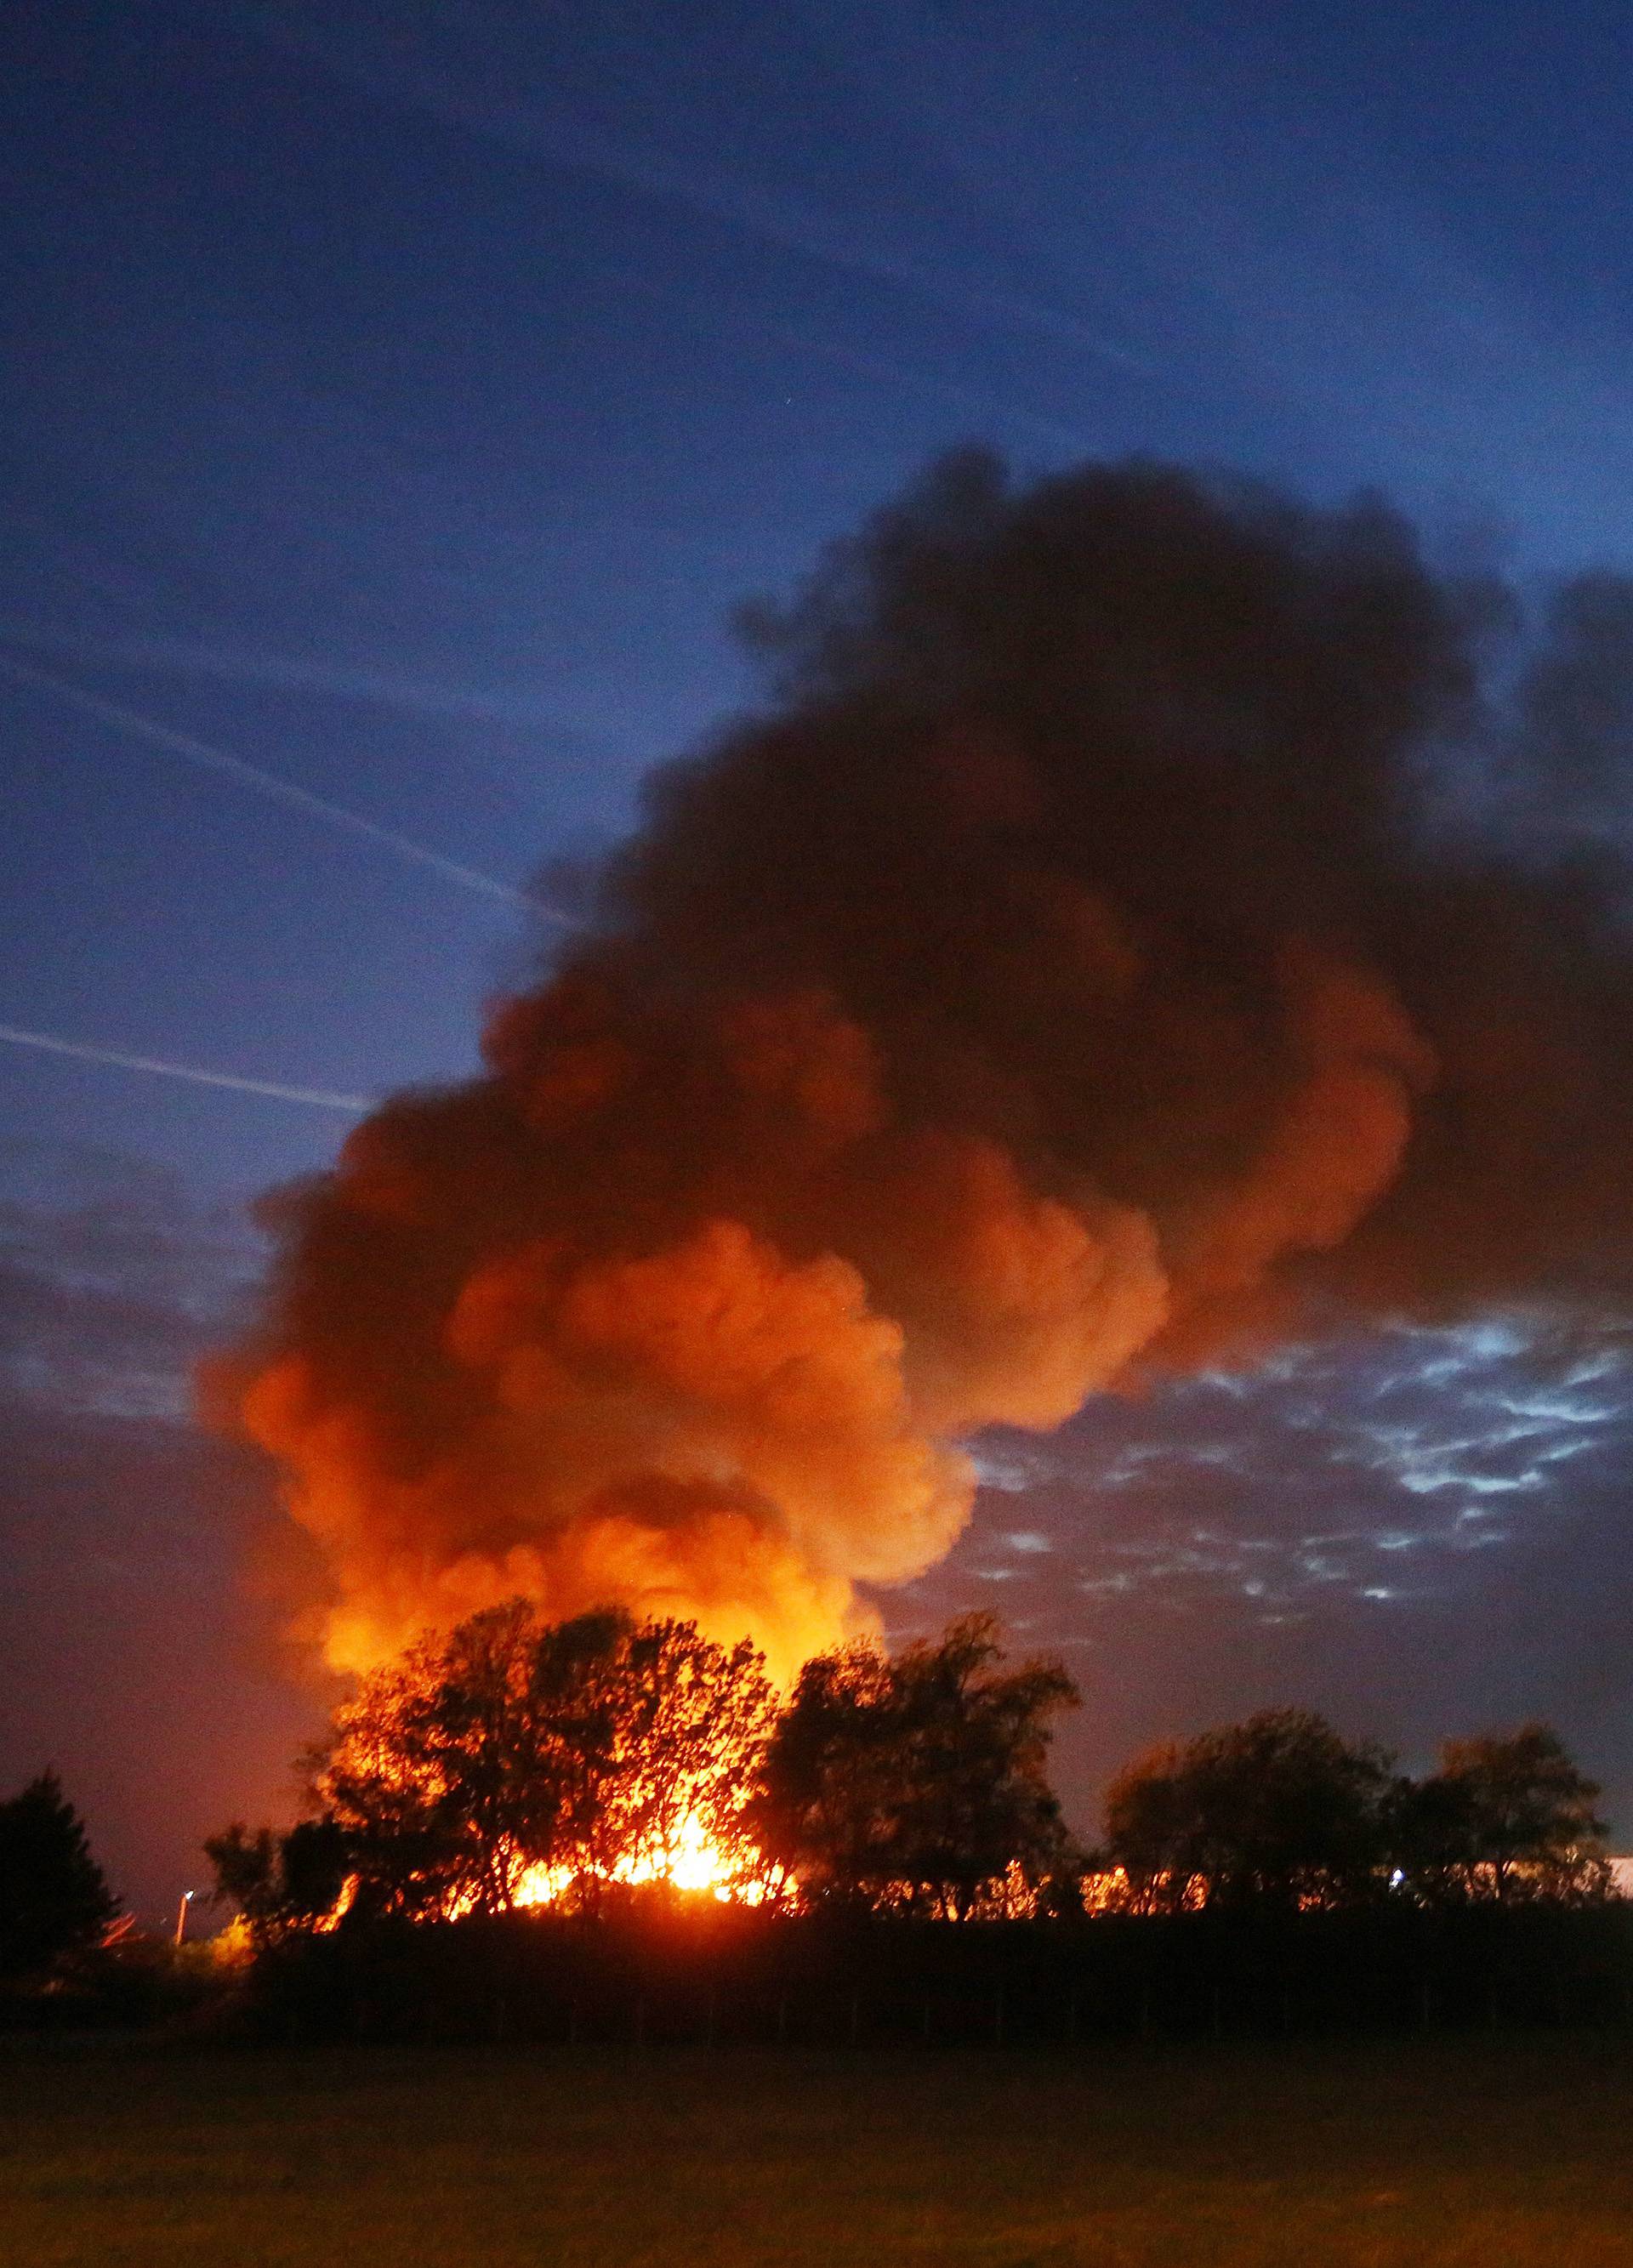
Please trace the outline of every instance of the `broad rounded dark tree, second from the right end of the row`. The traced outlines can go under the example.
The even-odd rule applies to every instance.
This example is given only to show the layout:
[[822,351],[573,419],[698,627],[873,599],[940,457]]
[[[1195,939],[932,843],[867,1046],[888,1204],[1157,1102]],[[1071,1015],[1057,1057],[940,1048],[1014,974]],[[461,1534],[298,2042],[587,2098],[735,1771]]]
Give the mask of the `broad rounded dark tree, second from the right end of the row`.
[[1388,1758],[1309,1710],[1263,1710],[1154,1749],[1107,1789],[1132,1903],[1345,1905],[1379,1887]]

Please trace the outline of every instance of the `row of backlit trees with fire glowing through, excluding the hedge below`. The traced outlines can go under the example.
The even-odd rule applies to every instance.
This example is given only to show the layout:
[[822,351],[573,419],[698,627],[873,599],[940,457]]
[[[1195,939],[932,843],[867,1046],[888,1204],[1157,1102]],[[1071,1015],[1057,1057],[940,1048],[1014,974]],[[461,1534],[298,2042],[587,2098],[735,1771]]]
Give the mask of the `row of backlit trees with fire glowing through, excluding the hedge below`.
[[608,1912],[646,1885],[916,1919],[1349,1910],[1610,1894],[1597,1785],[1540,1724],[1411,1778],[1309,1710],[1127,1765],[1077,1842],[1048,1749],[1077,1690],[973,1615],[805,1662],[526,1601],[367,1678],[306,1755],[313,1817],[209,1842],[261,1937],[354,1919]]

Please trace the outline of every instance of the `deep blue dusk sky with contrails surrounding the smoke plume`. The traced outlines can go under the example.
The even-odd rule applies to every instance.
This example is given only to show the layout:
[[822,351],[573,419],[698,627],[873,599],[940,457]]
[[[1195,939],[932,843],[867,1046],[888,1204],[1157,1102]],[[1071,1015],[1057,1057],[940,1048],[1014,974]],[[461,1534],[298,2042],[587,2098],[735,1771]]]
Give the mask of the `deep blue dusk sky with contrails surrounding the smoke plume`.
[[[274,1479],[193,1417],[247,1202],[474,1068],[746,699],[733,608],[953,442],[1381,488],[1520,590],[1633,569],[1633,32],[41,0],[9,48],[0,1787],[54,1765],[159,1914],[324,1710]],[[1628,1363],[1352,1329],[987,1438],[887,1624],[1064,1653],[1086,1830],[1134,1746],[1304,1701],[1415,1767],[1551,1717],[1633,1835]]]

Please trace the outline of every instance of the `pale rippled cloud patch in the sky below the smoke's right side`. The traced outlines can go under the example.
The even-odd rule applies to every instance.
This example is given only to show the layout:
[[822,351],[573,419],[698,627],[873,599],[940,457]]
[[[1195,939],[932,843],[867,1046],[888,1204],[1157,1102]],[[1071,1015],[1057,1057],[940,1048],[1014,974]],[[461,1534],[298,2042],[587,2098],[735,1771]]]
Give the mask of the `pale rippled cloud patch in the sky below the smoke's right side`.
[[1617,1492],[1628,1379],[1615,1331],[1594,1345],[1545,1313],[1313,1338],[1091,1402],[1041,1456],[987,1436],[962,1565],[987,1579],[1002,1554],[1034,1597],[1198,1624],[1420,1613]]

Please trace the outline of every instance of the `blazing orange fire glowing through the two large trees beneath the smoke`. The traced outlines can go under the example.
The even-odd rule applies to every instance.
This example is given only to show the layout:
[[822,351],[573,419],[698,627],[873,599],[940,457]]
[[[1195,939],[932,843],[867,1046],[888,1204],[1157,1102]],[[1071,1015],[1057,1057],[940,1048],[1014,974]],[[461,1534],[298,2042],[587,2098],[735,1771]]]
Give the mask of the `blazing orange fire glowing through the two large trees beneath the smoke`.
[[[1057,1665],[1002,1667],[987,1617],[894,1656],[816,1656],[778,1696],[746,1642],[617,1613],[547,1624],[517,1599],[336,1712],[311,1755],[318,1817],[284,1839],[281,1910],[331,1930],[606,1914],[658,1892],[1027,1914],[1073,1864],[1043,1762],[1075,1699]],[[268,1837],[234,1830],[213,1855],[229,1889],[268,1889]]]

